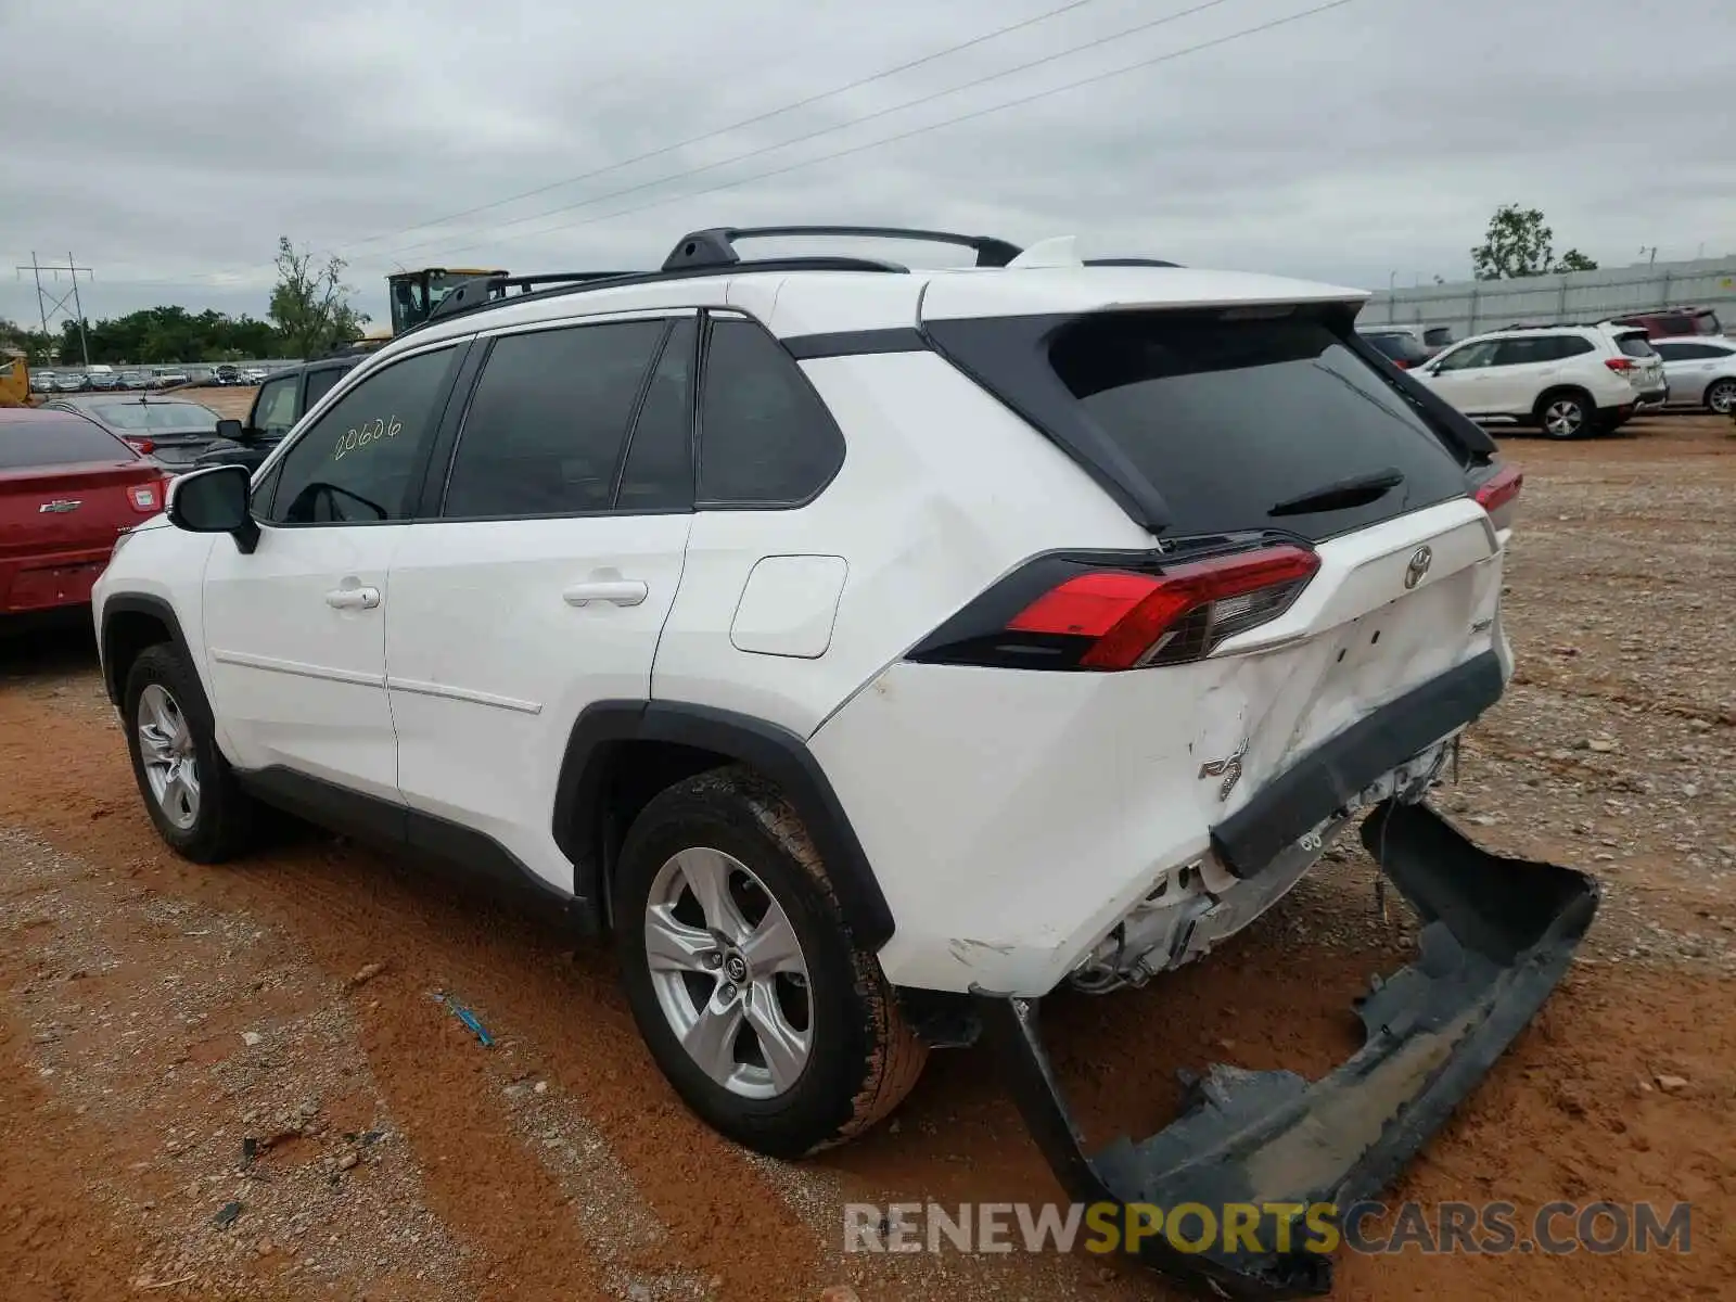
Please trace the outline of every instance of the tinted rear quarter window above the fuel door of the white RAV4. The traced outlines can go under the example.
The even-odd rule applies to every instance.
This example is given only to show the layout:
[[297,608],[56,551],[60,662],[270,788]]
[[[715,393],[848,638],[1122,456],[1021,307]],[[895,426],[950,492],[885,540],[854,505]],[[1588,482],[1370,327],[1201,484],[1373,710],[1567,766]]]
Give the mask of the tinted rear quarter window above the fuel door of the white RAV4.
[[844,464],[844,436],[776,339],[713,319],[700,396],[700,500],[807,502]]

